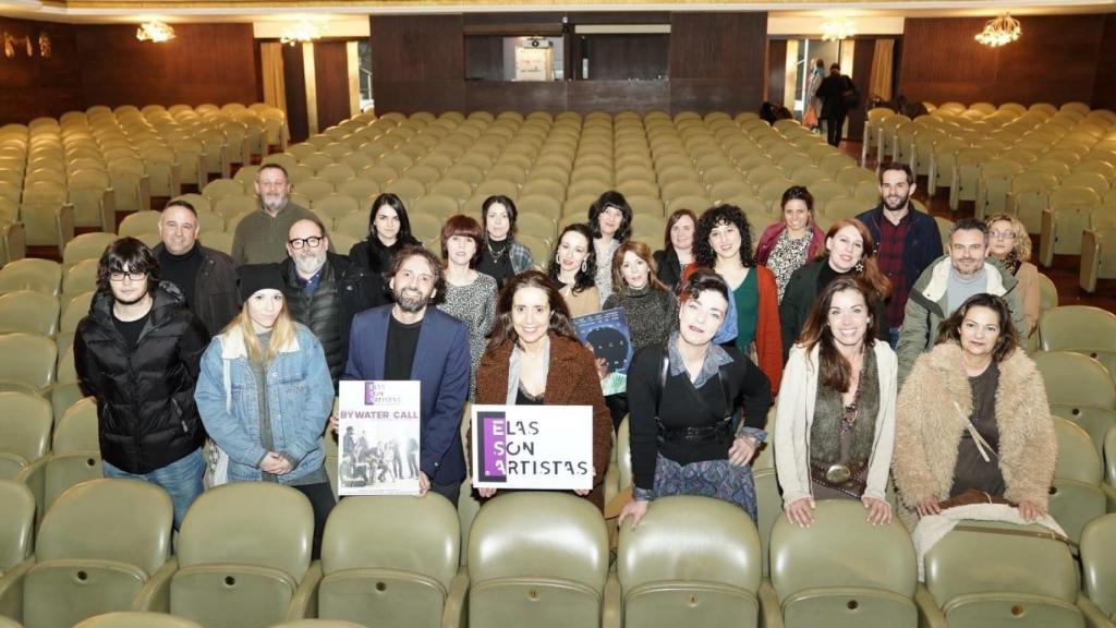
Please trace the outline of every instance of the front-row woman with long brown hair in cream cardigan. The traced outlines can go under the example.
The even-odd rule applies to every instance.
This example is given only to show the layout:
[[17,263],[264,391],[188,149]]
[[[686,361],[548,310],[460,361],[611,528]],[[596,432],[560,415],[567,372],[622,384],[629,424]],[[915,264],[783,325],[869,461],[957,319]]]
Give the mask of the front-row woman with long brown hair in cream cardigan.
[[775,427],[783,511],[814,522],[816,499],[859,499],[875,525],[888,523],[885,497],[895,436],[896,359],[876,340],[875,304],[856,277],[834,279],[790,350]]

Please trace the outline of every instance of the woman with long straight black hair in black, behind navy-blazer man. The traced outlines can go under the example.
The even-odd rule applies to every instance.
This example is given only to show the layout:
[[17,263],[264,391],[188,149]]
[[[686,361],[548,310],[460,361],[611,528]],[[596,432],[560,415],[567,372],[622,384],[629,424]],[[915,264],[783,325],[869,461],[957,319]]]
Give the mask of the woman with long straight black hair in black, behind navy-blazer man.
[[411,235],[411,219],[400,197],[383,193],[372,201],[368,237],[349,249],[349,261],[367,269],[365,283],[373,307],[392,302],[383,274],[392,266],[392,256],[407,245],[419,246]]

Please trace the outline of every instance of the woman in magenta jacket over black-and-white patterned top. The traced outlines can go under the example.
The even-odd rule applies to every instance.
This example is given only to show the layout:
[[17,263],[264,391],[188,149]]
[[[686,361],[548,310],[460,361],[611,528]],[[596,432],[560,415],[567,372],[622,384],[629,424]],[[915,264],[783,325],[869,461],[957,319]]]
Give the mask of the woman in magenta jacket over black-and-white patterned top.
[[782,220],[763,230],[756,248],[756,263],[775,273],[779,301],[787,292],[790,275],[818,255],[825,239],[814,222],[814,196],[802,185],[787,188],[782,193]]

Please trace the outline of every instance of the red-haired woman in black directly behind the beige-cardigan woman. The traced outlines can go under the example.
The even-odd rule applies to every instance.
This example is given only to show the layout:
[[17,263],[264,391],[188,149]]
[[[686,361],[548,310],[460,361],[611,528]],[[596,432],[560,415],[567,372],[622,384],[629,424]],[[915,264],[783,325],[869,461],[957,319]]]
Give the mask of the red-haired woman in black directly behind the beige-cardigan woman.
[[[872,302],[879,308],[884,307],[892,294],[892,284],[876,264],[876,244],[872,234],[856,219],[834,222],[826,232],[821,254],[790,276],[787,292],[779,303],[785,360],[790,355],[790,348],[798,342],[798,334],[802,332],[806,318],[821,292],[830,282],[845,275],[860,277],[872,292]],[[879,313],[883,312],[881,310]],[[877,337],[887,340],[887,330],[884,327],[877,325]]]

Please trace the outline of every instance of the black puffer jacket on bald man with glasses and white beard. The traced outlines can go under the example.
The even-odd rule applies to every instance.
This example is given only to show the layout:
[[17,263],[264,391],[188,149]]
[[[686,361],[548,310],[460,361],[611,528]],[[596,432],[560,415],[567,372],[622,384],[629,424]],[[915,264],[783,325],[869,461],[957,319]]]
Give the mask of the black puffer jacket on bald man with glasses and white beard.
[[295,263],[288,257],[279,268],[283,280],[283,297],[295,321],[314,332],[326,352],[329,375],[337,380],[348,360],[349,327],[353,316],[374,305],[367,293],[367,273],[352,265],[344,255],[327,254],[320,283],[312,295],[298,282]]

